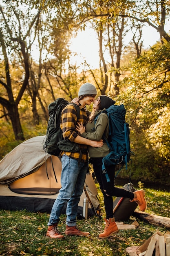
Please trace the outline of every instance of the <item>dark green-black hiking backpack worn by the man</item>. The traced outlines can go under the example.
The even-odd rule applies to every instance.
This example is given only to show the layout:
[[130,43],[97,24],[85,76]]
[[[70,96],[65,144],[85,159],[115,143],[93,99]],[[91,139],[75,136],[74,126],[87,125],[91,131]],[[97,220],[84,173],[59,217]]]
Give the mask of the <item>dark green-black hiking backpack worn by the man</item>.
[[60,128],[62,110],[66,105],[73,104],[77,111],[77,121],[79,119],[80,109],[75,103],[69,103],[64,98],[58,98],[49,104],[49,121],[46,130],[46,137],[43,144],[44,151],[50,155],[59,156],[61,150],[66,152],[78,152],[79,147],[71,141],[64,140]]

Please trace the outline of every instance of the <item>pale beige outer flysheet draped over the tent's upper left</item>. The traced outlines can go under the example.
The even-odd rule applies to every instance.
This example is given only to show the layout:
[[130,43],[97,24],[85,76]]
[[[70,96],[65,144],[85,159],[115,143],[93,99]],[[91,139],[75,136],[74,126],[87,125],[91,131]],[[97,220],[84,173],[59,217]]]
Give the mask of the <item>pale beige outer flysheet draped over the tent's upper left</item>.
[[33,173],[51,155],[43,150],[45,136],[37,136],[22,142],[0,161],[0,183],[9,184]]

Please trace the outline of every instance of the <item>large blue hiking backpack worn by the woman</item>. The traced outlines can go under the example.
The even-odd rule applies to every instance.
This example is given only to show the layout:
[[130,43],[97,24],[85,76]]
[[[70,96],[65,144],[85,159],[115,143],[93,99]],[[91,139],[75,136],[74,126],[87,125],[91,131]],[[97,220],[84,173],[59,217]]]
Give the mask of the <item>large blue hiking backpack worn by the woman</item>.
[[[102,112],[106,113],[109,119],[109,136],[108,139],[103,139],[108,144],[110,153],[102,160],[102,171],[106,174],[107,181],[109,182],[110,180],[106,173],[105,166],[122,164],[122,168],[124,164],[126,164],[127,170],[127,163],[130,161],[130,155],[132,153],[130,151],[130,129],[129,124],[125,121],[126,109],[123,104],[119,106],[112,105]],[[100,114],[102,112],[100,112]],[[98,116],[95,118],[95,123]],[[117,172],[117,175],[119,171]]]

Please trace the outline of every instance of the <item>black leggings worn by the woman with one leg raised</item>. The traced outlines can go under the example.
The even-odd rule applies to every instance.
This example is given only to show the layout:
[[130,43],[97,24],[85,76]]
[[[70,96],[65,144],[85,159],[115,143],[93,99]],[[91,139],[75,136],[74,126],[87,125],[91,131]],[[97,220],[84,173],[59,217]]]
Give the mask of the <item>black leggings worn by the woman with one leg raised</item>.
[[113,218],[113,196],[130,198],[132,200],[134,194],[125,189],[115,187],[115,165],[106,167],[110,179],[110,182],[107,182],[105,173],[102,173],[102,159],[103,157],[93,157],[90,159],[90,162],[93,164],[96,179],[103,193],[106,218],[109,219]]

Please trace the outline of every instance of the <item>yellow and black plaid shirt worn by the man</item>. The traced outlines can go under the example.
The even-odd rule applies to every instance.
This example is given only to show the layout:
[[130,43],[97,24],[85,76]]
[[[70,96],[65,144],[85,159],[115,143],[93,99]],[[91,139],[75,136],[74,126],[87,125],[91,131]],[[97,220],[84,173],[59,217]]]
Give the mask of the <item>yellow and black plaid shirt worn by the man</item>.
[[[86,126],[88,122],[88,117],[90,115],[90,111],[86,110],[86,107],[79,106],[80,108],[80,114],[78,122],[82,122],[83,126]],[[63,132],[63,137],[65,140],[74,141],[74,139],[77,137],[78,132],[75,130],[75,126],[77,123],[77,115],[76,115],[76,108],[72,104],[68,104],[63,110],[62,110],[62,117],[61,117],[61,123],[60,127]],[[87,162],[88,161],[88,152],[87,152],[87,146],[84,144],[77,144],[82,151],[82,159],[81,162]],[[71,158],[79,159],[79,153],[73,153],[73,152],[61,152],[60,156],[63,154],[68,155]]]

